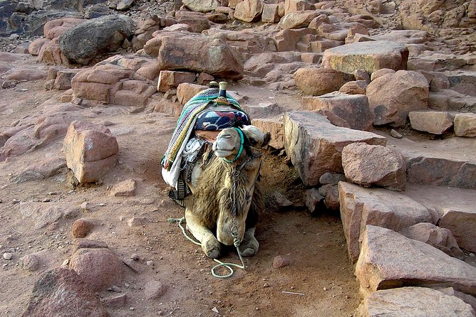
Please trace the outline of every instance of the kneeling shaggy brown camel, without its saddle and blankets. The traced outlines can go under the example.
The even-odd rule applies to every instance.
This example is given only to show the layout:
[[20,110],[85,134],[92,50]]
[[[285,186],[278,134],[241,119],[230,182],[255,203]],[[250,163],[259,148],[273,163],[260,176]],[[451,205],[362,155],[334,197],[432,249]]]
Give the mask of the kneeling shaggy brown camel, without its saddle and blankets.
[[218,258],[224,245],[239,246],[245,257],[257,253],[254,231],[263,209],[257,180],[269,139],[252,125],[223,129],[212,145],[214,155],[203,154],[192,168],[185,219],[207,257]]

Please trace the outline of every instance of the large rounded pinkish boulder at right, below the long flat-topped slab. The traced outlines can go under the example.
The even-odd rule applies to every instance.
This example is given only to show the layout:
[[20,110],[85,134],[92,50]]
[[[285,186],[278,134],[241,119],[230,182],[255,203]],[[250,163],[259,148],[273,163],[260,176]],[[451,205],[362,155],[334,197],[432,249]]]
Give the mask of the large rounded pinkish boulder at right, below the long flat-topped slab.
[[383,75],[368,84],[366,91],[376,125],[400,127],[406,123],[408,112],[428,109],[430,89],[419,72],[398,70]]

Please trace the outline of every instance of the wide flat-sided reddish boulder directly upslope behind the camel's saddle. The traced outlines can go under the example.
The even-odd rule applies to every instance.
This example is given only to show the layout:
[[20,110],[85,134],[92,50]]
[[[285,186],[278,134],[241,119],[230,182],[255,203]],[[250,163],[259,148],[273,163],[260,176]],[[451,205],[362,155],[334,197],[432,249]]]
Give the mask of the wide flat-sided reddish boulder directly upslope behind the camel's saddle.
[[144,46],[145,53],[157,56],[161,70],[207,72],[216,77],[240,79],[243,63],[225,41],[201,34],[160,31]]

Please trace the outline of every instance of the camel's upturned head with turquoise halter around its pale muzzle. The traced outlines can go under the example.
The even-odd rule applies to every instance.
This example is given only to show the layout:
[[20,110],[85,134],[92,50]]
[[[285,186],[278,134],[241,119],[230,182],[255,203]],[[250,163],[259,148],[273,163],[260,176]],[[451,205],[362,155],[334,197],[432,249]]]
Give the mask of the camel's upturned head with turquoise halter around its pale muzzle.
[[216,156],[232,162],[246,156],[247,149],[262,149],[269,143],[269,140],[268,132],[264,134],[260,129],[251,125],[242,128],[228,128],[218,134],[217,141],[213,144],[213,151]]

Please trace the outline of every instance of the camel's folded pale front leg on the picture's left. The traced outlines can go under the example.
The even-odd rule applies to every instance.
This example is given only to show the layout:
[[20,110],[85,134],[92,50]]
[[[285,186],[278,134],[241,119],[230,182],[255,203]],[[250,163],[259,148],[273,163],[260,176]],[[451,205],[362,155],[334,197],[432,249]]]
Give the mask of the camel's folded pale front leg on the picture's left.
[[217,259],[220,254],[221,243],[218,242],[212,231],[205,227],[200,217],[197,217],[189,208],[185,209],[185,220],[187,220],[187,230],[192,233],[195,239],[200,241],[202,250],[207,257]]

